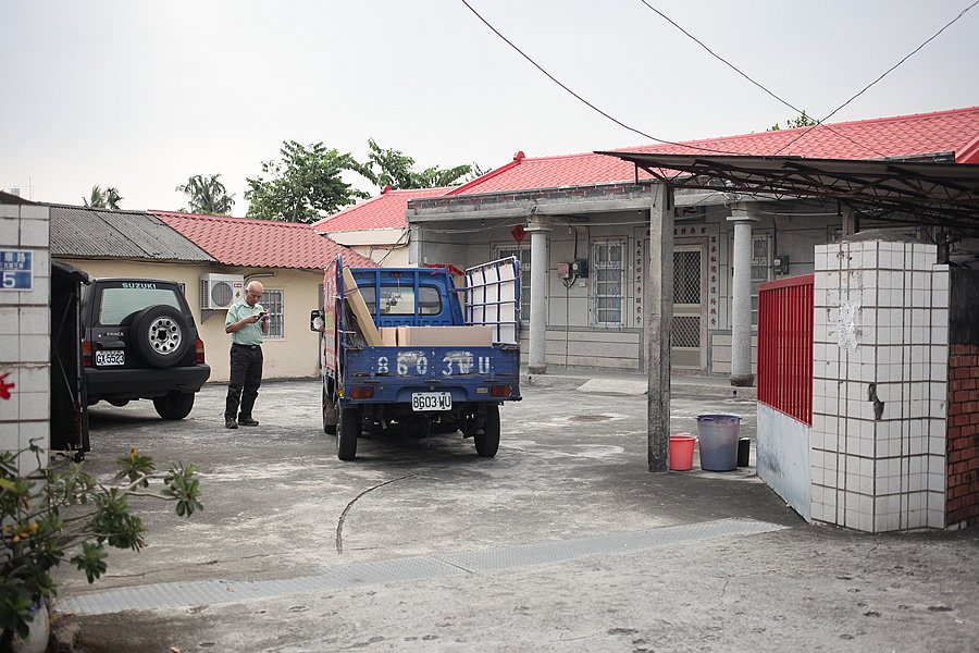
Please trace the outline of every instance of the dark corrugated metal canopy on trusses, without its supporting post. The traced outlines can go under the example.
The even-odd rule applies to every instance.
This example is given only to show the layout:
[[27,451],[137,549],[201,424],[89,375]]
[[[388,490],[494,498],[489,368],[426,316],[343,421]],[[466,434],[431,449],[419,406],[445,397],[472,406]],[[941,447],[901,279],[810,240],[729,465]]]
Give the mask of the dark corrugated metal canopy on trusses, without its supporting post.
[[[838,200],[853,209],[979,232],[979,165],[908,160],[807,159],[598,151],[678,188]],[[879,215],[878,215],[879,217]]]

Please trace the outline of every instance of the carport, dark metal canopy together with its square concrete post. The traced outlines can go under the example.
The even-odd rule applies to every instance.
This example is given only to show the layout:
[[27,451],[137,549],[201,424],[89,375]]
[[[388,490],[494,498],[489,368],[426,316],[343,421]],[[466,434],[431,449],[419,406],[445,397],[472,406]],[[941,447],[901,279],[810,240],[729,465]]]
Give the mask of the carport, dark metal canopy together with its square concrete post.
[[[839,160],[802,157],[748,157],[709,155],[656,155],[599,151],[635,165],[635,184],[659,186],[650,211],[650,283],[647,306],[649,333],[648,466],[650,471],[669,468],[670,344],[672,318],[673,229],[672,194],[676,188],[740,194],[767,198],[821,198],[835,200],[848,234],[887,215],[935,229],[937,241],[979,235],[979,165],[904,160]],[[640,178],[640,171],[656,182]],[[744,319],[745,280],[749,261],[742,254],[735,231],[734,334],[749,334],[751,317]],[[947,255],[947,250],[945,250]],[[742,309],[739,318],[739,305]],[[747,331],[745,330],[747,328]],[[736,346],[736,345],[735,345]]]

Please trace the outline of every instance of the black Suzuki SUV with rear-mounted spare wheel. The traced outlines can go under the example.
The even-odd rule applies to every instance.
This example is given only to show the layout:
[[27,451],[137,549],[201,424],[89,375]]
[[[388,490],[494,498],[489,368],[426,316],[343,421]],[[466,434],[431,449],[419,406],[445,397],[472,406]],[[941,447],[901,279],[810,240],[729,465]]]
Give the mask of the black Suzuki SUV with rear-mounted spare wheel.
[[183,419],[211,368],[181,286],[159,279],[98,279],[82,300],[82,365],[88,405],[152,399]]

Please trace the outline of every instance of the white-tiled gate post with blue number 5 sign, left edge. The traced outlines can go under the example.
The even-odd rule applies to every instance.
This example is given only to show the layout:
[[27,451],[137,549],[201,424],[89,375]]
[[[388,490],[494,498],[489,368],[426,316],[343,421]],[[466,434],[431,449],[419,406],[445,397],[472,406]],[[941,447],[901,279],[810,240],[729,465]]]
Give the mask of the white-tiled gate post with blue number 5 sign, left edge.
[[[10,392],[9,399],[0,398],[0,449],[17,452],[35,441],[45,452],[41,467],[47,466],[50,446],[49,225],[48,207],[0,205],[0,249],[33,256],[32,289],[0,289],[0,375]],[[38,460],[29,454],[18,463],[22,475],[38,469]]]

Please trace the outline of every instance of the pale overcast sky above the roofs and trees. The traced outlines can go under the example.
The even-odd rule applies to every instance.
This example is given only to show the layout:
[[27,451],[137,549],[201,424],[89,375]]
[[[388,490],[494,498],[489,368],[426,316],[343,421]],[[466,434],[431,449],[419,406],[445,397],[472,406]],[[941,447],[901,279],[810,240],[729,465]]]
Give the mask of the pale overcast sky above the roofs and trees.
[[[641,0],[468,0],[606,113],[666,140],[760,132],[793,111]],[[823,118],[974,0],[646,0],[774,95]],[[648,144],[554,84],[461,0],[3,0],[0,189],[175,210],[284,140],[417,169],[494,169]],[[979,7],[830,122],[979,104]],[[356,187],[377,189],[357,175]]]

